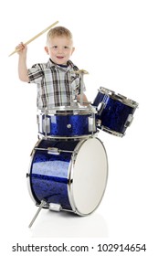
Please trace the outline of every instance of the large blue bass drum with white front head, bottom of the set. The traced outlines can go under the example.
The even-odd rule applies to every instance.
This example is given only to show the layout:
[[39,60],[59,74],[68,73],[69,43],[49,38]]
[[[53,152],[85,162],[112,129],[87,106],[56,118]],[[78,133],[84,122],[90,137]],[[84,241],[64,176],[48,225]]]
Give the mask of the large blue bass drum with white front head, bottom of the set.
[[28,189],[37,204],[86,216],[100,205],[108,178],[108,159],[100,139],[39,140],[35,146]]

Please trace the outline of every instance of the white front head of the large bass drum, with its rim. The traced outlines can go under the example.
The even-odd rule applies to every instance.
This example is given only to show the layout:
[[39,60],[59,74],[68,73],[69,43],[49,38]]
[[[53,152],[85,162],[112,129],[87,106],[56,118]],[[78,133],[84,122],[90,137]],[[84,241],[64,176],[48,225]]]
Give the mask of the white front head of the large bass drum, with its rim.
[[69,199],[77,214],[84,216],[94,211],[103,197],[108,160],[105,148],[98,138],[81,141],[72,158]]

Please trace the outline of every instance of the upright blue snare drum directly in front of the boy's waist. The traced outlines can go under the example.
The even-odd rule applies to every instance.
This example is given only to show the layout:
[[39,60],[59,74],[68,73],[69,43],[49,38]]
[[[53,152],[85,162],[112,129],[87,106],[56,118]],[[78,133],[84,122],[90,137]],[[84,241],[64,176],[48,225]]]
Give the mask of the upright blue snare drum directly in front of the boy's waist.
[[60,107],[37,113],[38,133],[45,137],[84,137],[96,133],[96,108]]

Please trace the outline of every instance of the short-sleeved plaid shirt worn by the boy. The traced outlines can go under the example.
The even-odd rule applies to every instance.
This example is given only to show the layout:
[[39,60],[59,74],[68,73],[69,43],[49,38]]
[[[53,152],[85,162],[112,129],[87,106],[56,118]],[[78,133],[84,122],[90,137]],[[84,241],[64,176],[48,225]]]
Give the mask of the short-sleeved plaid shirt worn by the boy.
[[29,82],[37,84],[37,108],[69,106],[80,93],[80,76],[75,73],[77,70],[78,67],[70,60],[68,67],[64,67],[51,59],[28,69]]

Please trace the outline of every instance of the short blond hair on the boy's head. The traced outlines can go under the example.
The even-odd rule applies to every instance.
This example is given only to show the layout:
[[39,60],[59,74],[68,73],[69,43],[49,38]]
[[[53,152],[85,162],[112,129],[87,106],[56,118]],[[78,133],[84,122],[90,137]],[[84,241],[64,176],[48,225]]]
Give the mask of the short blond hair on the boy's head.
[[70,40],[73,39],[71,32],[66,27],[51,28],[47,32],[47,43],[48,43],[49,39],[53,38],[53,37],[68,37],[68,39],[70,39]]

